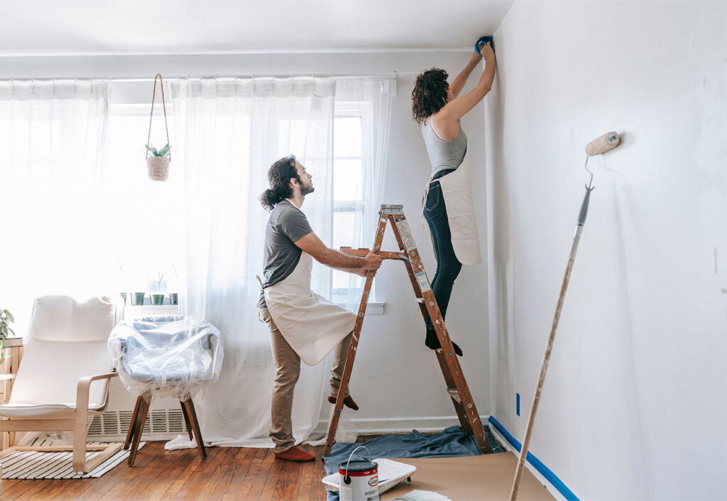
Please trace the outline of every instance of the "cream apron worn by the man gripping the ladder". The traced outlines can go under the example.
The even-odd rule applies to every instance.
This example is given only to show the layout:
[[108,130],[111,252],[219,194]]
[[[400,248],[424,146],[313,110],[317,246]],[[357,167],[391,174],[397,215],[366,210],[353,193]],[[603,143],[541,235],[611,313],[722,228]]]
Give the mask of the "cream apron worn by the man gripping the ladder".
[[356,315],[310,290],[313,257],[302,252],[289,276],[265,289],[276,326],[302,361],[316,365],[356,324]]

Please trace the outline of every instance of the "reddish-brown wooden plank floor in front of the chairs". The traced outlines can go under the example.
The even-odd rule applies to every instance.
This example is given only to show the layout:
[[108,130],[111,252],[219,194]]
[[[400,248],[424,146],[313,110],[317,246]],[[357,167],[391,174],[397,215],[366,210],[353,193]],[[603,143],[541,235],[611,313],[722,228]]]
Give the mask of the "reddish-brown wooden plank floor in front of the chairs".
[[140,449],[101,478],[3,480],[2,500],[325,500],[321,484],[323,446],[301,446],[315,462],[275,460],[273,449],[209,447],[164,450],[164,443]]

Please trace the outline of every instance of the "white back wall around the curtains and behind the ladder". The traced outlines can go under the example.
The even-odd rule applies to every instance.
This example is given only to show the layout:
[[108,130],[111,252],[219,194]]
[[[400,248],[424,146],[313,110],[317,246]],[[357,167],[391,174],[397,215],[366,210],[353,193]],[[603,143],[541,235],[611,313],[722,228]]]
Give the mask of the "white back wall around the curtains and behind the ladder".
[[[452,73],[467,63],[468,52],[382,52],[356,54],[268,54],[214,56],[106,56],[106,57],[0,57],[0,78],[105,76],[135,77],[162,73],[165,77],[187,75],[390,75],[398,78],[389,141],[389,173],[384,203],[403,204],[414,237],[425,260],[427,273],[434,276],[435,260],[428,230],[419,223],[421,197],[429,177],[430,164],[419,129],[411,120],[411,73],[439,66]],[[470,86],[478,76],[473,75]],[[146,102],[151,83],[115,84],[114,102]],[[470,137],[467,155],[472,165],[483,165],[483,106],[470,113],[463,127]],[[483,170],[475,172],[483,183]],[[478,199],[484,213],[484,199]],[[261,215],[262,217],[262,215]],[[483,248],[486,221],[481,218]],[[387,249],[397,249],[388,235]],[[489,414],[489,342],[487,340],[486,265],[466,267],[451,298],[449,332],[465,350],[462,366],[470,382],[475,404]],[[361,411],[345,412],[342,421],[356,420],[348,428],[361,430],[404,430],[411,427],[441,428],[457,424],[451,399],[445,393],[443,377],[434,353],[425,347],[425,328],[414,302],[403,265],[387,262],[377,275],[377,300],[385,301],[382,316],[370,316],[364,323],[351,392]],[[250,305],[252,308],[252,305]],[[477,315],[470,315],[471,312]],[[251,314],[255,314],[251,309]],[[270,382],[272,384],[272,381]],[[326,404],[321,420],[329,420],[332,407]],[[325,429],[326,425],[321,423]]]

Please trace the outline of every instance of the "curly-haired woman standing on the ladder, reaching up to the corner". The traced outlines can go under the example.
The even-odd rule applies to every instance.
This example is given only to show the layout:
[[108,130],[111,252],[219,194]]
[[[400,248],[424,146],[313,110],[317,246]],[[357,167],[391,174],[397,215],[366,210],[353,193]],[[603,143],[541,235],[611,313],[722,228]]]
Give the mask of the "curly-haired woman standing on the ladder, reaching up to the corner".
[[[422,128],[432,164],[423,204],[437,258],[437,271],[431,286],[442,318],[462,264],[480,262],[470,182],[465,169],[457,169],[467,152],[467,136],[459,125],[459,119],[487,95],[495,74],[495,55],[490,43],[481,45],[480,52],[482,56],[473,51],[470,62],[451,85],[447,82],[446,71],[432,68],[417,76],[411,92],[411,111]],[[481,58],[486,65],[480,81],[474,89],[459,97]],[[452,217],[447,216],[447,205],[451,206]],[[433,350],[440,348],[431,320],[427,320],[425,344]],[[461,356],[462,350],[454,342],[452,344],[457,355]]]

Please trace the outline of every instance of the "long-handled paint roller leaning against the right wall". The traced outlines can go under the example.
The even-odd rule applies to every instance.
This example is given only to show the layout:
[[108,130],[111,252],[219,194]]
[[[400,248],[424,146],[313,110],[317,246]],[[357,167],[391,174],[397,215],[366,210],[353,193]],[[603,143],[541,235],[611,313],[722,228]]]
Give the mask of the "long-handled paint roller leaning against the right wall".
[[513,489],[510,491],[510,501],[515,501],[518,497],[518,489],[520,488],[520,480],[523,475],[523,466],[525,465],[526,457],[528,456],[528,447],[530,445],[530,437],[533,432],[533,424],[535,422],[535,414],[538,410],[538,404],[540,403],[540,395],[543,389],[543,383],[545,382],[545,374],[547,373],[547,366],[550,362],[550,352],[553,350],[553,342],[555,341],[555,330],[558,329],[558,321],[561,319],[561,310],[563,309],[563,300],[566,297],[566,290],[571,279],[571,271],[573,270],[573,262],[576,259],[576,252],[578,251],[578,243],[581,239],[581,233],[583,231],[583,225],[586,223],[586,216],[588,215],[588,204],[590,202],[590,193],[593,191],[593,172],[588,169],[588,159],[591,156],[601,155],[606,151],[613,150],[616,146],[621,143],[621,137],[616,132],[607,132],[606,134],[596,137],[593,141],[586,145],[586,163],[585,169],[590,174],[590,180],[586,185],[586,194],[583,197],[581,204],[581,210],[578,214],[578,223],[576,226],[576,234],[573,238],[573,245],[571,246],[571,254],[568,258],[568,265],[566,266],[566,274],[563,276],[563,284],[561,285],[561,294],[558,296],[558,305],[555,306],[555,316],[553,316],[553,325],[550,328],[550,337],[548,338],[547,348],[545,348],[545,356],[543,357],[543,363],[540,367],[540,376],[538,378],[538,385],[533,396],[533,404],[530,408],[530,415],[528,417],[528,425],[525,430],[525,438],[523,438],[523,446],[520,449],[520,458],[518,459],[518,467],[515,469],[515,478],[513,478]]

